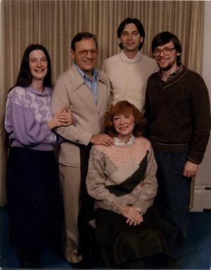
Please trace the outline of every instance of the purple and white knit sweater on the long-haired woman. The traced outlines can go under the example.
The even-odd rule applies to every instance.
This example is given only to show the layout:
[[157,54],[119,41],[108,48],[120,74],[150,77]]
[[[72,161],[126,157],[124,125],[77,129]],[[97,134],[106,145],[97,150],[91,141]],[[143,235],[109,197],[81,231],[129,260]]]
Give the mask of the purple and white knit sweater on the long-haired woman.
[[26,88],[15,86],[8,93],[5,128],[11,146],[53,150],[58,138],[47,125],[52,118],[49,87],[39,92],[32,85]]

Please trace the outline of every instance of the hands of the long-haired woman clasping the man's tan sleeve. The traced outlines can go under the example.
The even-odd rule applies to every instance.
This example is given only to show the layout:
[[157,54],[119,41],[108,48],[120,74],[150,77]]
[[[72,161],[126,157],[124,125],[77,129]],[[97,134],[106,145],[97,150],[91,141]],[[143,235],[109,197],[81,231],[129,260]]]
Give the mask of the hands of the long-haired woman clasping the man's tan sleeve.
[[67,127],[74,124],[74,118],[72,117],[72,112],[68,106],[60,108],[53,119],[49,121],[49,129],[54,129],[55,127]]

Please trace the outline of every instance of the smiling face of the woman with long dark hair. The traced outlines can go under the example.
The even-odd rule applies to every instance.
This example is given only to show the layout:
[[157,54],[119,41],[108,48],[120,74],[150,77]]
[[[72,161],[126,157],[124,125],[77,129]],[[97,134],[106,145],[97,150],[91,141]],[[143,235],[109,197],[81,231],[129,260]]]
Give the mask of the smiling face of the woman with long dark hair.
[[31,51],[29,57],[30,72],[33,81],[43,81],[48,72],[48,61],[44,51],[34,50]]

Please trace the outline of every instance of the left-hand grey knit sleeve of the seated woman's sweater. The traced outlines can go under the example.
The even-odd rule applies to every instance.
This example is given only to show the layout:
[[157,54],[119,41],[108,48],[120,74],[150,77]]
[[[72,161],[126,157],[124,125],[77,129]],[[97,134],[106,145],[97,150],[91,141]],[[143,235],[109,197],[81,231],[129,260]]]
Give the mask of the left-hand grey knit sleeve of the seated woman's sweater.
[[87,191],[95,200],[103,201],[107,210],[120,214],[127,203],[124,198],[117,197],[106,188],[105,161],[105,154],[93,146],[89,155]]

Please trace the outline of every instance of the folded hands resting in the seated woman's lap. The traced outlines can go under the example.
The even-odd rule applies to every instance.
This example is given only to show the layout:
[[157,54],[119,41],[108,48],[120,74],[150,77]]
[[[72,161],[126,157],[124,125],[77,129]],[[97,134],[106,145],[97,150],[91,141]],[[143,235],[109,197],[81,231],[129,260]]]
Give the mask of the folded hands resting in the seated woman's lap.
[[129,225],[139,225],[143,221],[141,211],[133,206],[125,205],[122,209],[122,216],[127,218],[126,223]]

